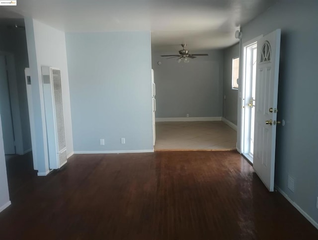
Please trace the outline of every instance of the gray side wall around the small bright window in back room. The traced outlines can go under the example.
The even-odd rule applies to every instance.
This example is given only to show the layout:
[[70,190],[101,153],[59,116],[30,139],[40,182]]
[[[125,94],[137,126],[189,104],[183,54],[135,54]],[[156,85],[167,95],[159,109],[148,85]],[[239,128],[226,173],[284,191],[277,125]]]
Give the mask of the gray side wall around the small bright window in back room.
[[232,59],[239,57],[239,43],[224,49],[223,117],[238,124],[238,90],[232,89]]

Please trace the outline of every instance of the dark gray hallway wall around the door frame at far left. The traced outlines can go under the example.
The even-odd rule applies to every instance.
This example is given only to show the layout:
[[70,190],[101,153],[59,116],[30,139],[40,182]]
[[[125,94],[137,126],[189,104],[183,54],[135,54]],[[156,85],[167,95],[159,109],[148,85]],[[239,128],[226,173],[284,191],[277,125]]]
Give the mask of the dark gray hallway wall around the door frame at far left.
[[[31,149],[31,134],[24,68],[29,67],[25,31],[0,26],[0,51],[14,54],[15,72],[20,110],[23,151]],[[11,103],[12,104],[12,103]]]

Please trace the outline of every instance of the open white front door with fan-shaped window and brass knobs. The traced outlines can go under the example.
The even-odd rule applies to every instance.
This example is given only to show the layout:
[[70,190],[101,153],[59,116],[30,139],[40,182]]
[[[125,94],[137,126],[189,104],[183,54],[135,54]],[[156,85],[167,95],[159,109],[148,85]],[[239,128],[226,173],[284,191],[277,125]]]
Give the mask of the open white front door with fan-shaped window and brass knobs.
[[277,94],[281,30],[257,41],[257,74],[253,167],[269,191],[274,191]]

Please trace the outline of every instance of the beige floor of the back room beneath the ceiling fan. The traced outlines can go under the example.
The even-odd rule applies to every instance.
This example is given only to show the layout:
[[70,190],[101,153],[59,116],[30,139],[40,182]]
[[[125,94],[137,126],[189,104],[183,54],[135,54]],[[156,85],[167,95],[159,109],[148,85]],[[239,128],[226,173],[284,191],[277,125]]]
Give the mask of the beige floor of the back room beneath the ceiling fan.
[[236,149],[237,132],[222,121],[156,122],[155,150]]

